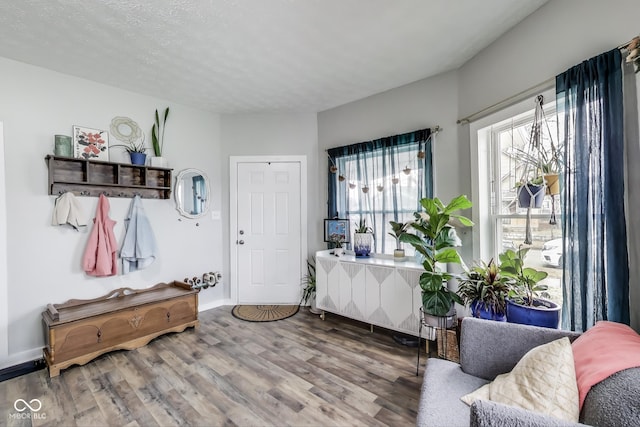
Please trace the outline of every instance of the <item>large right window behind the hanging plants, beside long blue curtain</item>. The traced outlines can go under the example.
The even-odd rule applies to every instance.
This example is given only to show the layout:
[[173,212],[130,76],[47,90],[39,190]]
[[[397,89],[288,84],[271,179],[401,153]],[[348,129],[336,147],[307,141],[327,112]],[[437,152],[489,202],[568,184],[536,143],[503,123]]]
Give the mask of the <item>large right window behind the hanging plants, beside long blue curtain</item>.
[[[555,104],[545,106],[544,116],[546,120],[541,129],[541,141],[543,148],[550,151],[552,140],[557,146]],[[478,177],[482,181],[480,187],[485,186],[485,191],[480,193],[489,200],[481,204],[485,220],[479,221],[476,226],[485,227],[484,235],[492,242],[491,247],[484,245],[481,259],[497,259],[498,254],[506,249],[530,247],[525,259],[526,266],[549,274],[544,283],[549,286],[550,299],[561,304],[562,227],[559,195],[549,195],[547,192],[542,198],[542,205],[531,209],[531,244],[524,245],[528,209],[518,203],[518,185],[531,172],[527,171],[531,168],[531,162],[539,160],[535,158],[538,154],[530,149],[533,124],[534,110],[530,110],[478,131],[478,144],[486,144],[485,147],[478,147],[479,162],[484,162],[478,168]],[[540,195],[542,197],[542,193]]]

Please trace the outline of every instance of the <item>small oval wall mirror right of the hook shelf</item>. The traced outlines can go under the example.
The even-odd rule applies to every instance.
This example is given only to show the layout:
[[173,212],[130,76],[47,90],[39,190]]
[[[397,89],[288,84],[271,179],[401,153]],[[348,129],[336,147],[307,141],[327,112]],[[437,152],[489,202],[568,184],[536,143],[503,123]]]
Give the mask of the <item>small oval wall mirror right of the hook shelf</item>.
[[187,218],[199,218],[209,210],[209,179],[199,169],[185,169],[173,189],[176,209]]

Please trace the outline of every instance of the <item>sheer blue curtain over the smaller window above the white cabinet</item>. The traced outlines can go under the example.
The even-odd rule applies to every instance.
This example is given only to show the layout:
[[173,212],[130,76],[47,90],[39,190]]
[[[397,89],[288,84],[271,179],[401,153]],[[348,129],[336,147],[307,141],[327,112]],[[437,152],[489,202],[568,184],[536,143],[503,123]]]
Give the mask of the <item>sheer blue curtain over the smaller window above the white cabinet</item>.
[[389,221],[413,218],[420,199],[432,197],[431,136],[422,129],[328,150],[328,218],[350,219],[352,229],[364,218],[374,252],[392,250]]

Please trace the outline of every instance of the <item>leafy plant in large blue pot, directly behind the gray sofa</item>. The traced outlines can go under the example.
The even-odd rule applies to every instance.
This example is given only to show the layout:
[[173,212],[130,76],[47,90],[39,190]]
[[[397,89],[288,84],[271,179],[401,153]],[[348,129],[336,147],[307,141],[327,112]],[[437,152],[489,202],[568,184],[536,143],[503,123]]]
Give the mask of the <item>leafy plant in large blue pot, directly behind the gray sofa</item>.
[[529,248],[508,249],[500,254],[500,271],[511,279],[507,298],[507,321],[525,325],[557,328],[560,307],[545,297],[547,285],[540,283],[547,273],[525,267],[524,258]]

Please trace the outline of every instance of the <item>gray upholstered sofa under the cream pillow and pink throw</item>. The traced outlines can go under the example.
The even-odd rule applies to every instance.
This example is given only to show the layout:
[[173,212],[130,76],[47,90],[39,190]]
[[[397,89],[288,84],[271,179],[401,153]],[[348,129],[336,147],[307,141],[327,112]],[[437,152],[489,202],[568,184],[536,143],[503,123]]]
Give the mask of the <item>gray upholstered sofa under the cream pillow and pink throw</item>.
[[[500,403],[460,400],[511,369],[530,349],[574,332],[465,317],[460,334],[460,364],[428,359],[418,426],[566,426],[567,422]],[[597,349],[594,349],[597,351]],[[640,368],[614,374],[591,388],[580,421],[593,426],[640,425]],[[574,424],[580,425],[580,424]]]

